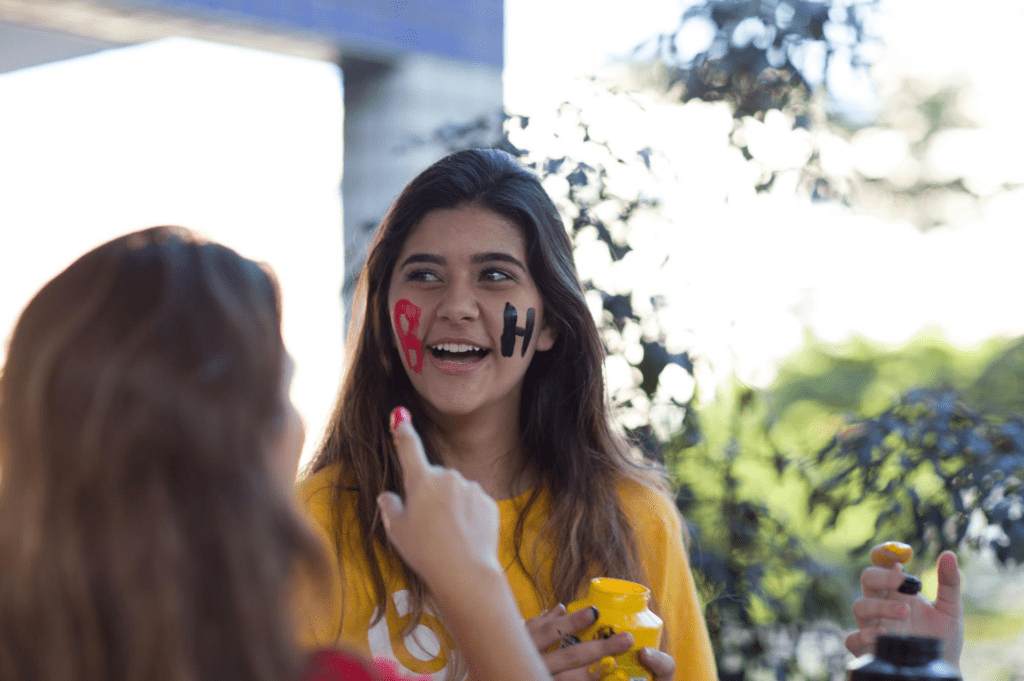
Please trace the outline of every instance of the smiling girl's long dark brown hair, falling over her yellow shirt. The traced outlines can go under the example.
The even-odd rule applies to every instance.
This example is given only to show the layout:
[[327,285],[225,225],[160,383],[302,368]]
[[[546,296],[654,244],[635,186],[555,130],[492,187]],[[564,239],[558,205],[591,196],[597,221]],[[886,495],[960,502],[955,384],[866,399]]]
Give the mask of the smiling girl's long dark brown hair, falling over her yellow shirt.
[[[543,530],[553,546],[551,602],[568,603],[581,595],[591,577],[602,574],[643,582],[637,546],[622,509],[616,485],[624,479],[665,492],[660,471],[640,460],[612,428],[601,373],[604,350],[584,298],[572,259],[572,246],[561,218],[538,177],[516,160],[496,150],[470,150],[436,162],[416,177],[392,204],[381,223],[356,288],[349,337],[349,359],[324,443],[310,471],[340,464],[340,484],[356,492],[357,528],[380,605],[387,591],[375,546],[383,548],[400,569],[412,596],[407,633],[423,614],[426,586],[395,553],[377,512],[377,496],[399,491],[400,468],[387,417],[407,406],[425,434],[428,457],[440,463],[430,439],[431,424],[420,408],[392,340],[387,294],[391,272],[410,231],[428,212],[475,205],[509,219],[522,230],[530,274],[544,300],[545,321],[556,333],[554,346],[537,352],[526,371],[520,407],[520,432],[526,459],[540,475],[514,533],[522,558],[524,520],[542,490],[550,494],[550,517]],[[340,514],[341,505],[336,504]],[[342,546],[340,515],[335,522],[335,550]],[[527,572],[528,573],[528,572]],[[541,590],[543,581],[534,574]],[[378,619],[384,608],[378,610]]]

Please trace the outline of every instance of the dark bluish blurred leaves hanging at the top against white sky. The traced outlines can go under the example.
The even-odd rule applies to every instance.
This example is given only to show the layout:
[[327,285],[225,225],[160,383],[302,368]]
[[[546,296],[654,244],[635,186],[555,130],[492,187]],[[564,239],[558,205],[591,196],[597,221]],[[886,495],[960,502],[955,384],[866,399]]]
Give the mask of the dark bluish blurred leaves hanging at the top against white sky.
[[[812,201],[849,204],[861,178],[823,162],[822,102],[828,101],[837,71],[867,78],[880,44],[873,29],[878,5],[879,0],[691,3],[677,26],[637,47],[647,72],[640,80],[681,102],[728,102],[735,119],[733,146],[761,167],[758,191],[772,190],[795,173],[798,190]],[[806,151],[780,164],[777,154],[758,144],[759,124],[765,123],[788,127],[790,145]],[[792,184],[782,182],[784,190]]]

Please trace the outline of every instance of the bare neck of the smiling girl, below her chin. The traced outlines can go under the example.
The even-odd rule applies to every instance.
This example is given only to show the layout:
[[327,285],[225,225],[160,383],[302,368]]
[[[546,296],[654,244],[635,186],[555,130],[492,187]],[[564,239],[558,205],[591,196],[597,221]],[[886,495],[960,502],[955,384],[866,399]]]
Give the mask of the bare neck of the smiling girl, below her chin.
[[434,442],[441,461],[493,499],[515,497],[536,482],[536,472],[522,470],[524,453],[519,415],[513,410],[481,409],[464,416],[433,414]]

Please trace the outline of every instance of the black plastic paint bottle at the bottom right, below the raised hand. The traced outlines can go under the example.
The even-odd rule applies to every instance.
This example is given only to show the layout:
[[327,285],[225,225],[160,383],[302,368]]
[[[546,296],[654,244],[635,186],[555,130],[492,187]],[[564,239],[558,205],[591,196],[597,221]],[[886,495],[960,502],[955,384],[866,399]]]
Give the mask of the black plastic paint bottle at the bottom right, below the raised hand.
[[847,670],[849,681],[961,681],[942,659],[942,641],[922,636],[879,636],[874,654],[858,657]]

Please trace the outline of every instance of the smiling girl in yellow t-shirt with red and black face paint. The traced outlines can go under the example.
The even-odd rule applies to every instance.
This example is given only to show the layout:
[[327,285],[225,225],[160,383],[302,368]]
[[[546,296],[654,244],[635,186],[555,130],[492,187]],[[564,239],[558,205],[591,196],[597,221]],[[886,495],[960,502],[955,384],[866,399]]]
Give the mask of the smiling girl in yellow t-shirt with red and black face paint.
[[[565,614],[593,577],[640,582],[665,621],[642,659],[665,681],[714,679],[680,519],[659,471],[609,422],[603,349],[568,236],[509,155],[454,154],[414,179],[377,233],[356,292],[347,373],[302,499],[330,539],[340,596],[310,644],[343,643],[412,673],[463,664],[376,503],[402,478],[385,419],[409,406],[431,462],[494,498],[500,558],[535,643],[590,625]],[[453,624],[453,623],[449,623]],[[630,649],[629,634],[545,654],[556,678]]]

